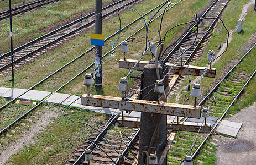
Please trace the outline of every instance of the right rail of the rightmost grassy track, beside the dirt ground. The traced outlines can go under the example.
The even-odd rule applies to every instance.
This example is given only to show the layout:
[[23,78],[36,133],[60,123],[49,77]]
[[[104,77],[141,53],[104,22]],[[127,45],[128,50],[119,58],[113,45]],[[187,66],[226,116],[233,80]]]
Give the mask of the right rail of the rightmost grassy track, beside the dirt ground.
[[218,121],[216,122],[216,124],[214,125],[214,127],[211,129],[210,133],[206,136],[206,138],[203,140],[203,142],[200,144],[200,146],[198,146],[197,150],[194,152],[194,154],[192,155],[192,159],[195,158],[195,156],[197,155],[198,151],[200,151],[201,147],[203,146],[203,144],[205,144],[206,140],[209,138],[209,136],[213,133],[213,131],[216,129],[217,125],[221,122],[221,120],[223,119],[223,117],[226,115],[226,113],[228,112],[229,108],[231,108],[231,106],[233,105],[233,103],[237,100],[237,98],[242,94],[244,88],[248,85],[248,83],[250,82],[250,80],[252,80],[253,76],[255,75],[256,70],[254,71],[254,73],[250,76],[250,78],[248,79],[248,81],[244,84],[244,86],[242,87],[242,89],[239,91],[238,95],[233,99],[233,101],[231,102],[231,104],[228,106],[228,108],[226,109],[226,111],[222,114],[221,118],[218,119]]

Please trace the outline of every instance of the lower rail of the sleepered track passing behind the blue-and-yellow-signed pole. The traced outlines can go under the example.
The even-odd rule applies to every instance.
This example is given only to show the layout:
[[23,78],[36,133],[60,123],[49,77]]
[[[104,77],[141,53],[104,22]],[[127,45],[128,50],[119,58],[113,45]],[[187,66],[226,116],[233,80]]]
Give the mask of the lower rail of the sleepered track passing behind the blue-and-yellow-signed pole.
[[[123,1],[123,0],[122,0],[122,1]],[[136,1],[138,1],[138,0],[134,0],[134,1],[132,1],[132,2],[129,2],[129,3],[125,4],[125,5],[129,5],[129,4],[134,3],[134,2],[136,2]],[[123,6],[124,6],[124,5],[123,5]],[[123,7],[123,6],[122,6],[122,7]],[[120,8],[122,8],[122,7],[120,7]],[[110,15],[110,14],[116,12],[116,11],[119,10],[120,8],[117,8],[117,9],[115,9],[115,10],[112,10],[111,12],[109,12],[109,13],[103,15],[102,17],[107,17],[108,15]],[[38,51],[40,51],[40,50],[43,50],[44,48],[46,48],[46,47],[52,45],[53,43],[56,43],[56,42],[62,40],[63,38],[74,34],[76,31],[79,31],[79,30],[85,28],[86,26],[88,26],[88,25],[90,25],[90,24],[93,24],[94,22],[95,22],[95,20],[92,20],[92,21],[90,21],[89,23],[87,23],[87,24],[85,24],[85,25],[82,25],[81,27],[78,27],[77,29],[75,29],[75,30],[73,30],[73,31],[70,31],[69,33],[67,33],[67,34],[65,34],[65,35],[62,35],[61,37],[56,38],[54,41],[51,41],[51,42],[46,43],[46,45],[41,46],[41,47],[37,48],[36,50],[34,50],[34,51],[32,51],[32,52],[30,52],[30,53],[28,53],[28,54],[26,54],[26,55],[24,55],[24,56],[18,58],[18,59],[15,59],[15,61],[14,61],[13,63],[15,64],[15,63],[18,63],[18,62],[22,61],[23,59],[25,59],[25,58],[31,56],[32,54],[34,54],[34,53],[36,53],[36,52],[38,52]],[[0,57],[0,59],[1,59],[1,57]],[[12,65],[12,63],[8,63],[7,65],[4,65],[3,67],[0,68],[0,72],[1,72],[2,70],[6,69],[6,68],[11,67],[11,65]]]

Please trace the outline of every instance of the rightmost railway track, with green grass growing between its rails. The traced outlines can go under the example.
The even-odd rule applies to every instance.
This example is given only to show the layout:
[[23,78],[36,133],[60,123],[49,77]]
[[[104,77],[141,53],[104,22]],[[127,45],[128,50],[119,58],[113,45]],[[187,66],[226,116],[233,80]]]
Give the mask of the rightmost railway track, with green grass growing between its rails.
[[[209,94],[203,98],[203,100],[198,104],[198,106],[209,106],[210,116],[219,117],[217,122],[212,125],[209,134],[205,134],[200,138],[200,144],[198,144],[196,149],[192,152],[192,158],[195,159],[199,155],[207,156],[206,153],[200,153],[206,140],[214,133],[218,124],[226,116],[227,112],[233,106],[233,104],[238,100],[239,96],[243,93],[244,88],[248,85],[253,76],[255,76],[256,70],[252,74],[245,74],[244,72],[238,72],[239,64],[243,59],[247,58],[247,54],[256,46],[256,43],[244,54],[244,56],[227,72],[226,75],[218,82],[218,84],[213,87]],[[223,82],[223,83],[222,83]],[[220,87],[221,86],[221,87]],[[213,97],[214,96],[214,97]],[[214,100],[213,100],[214,99]],[[177,141],[179,145],[179,141]],[[200,158],[197,158],[200,161]],[[201,161],[202,162],[202,161]]]

